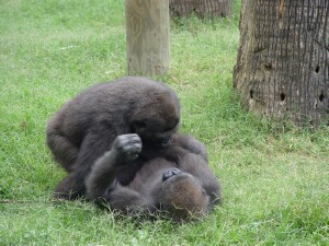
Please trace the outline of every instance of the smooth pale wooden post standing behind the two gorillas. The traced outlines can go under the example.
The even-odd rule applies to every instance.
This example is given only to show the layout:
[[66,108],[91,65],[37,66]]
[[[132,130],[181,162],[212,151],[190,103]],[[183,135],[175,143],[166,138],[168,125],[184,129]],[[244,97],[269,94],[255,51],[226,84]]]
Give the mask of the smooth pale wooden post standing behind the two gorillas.
[[169,70],[169,0],[126,0],[129,75],[160,75]]

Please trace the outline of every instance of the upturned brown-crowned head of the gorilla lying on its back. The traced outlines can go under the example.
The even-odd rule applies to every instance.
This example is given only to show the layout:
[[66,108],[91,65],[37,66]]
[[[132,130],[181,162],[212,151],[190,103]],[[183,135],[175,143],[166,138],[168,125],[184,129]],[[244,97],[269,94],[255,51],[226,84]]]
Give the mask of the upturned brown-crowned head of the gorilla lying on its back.
[[162,175],[161,206],[179,221],[201,218],[207,212],[209,197],[200,181],[179,168],[169,168]]

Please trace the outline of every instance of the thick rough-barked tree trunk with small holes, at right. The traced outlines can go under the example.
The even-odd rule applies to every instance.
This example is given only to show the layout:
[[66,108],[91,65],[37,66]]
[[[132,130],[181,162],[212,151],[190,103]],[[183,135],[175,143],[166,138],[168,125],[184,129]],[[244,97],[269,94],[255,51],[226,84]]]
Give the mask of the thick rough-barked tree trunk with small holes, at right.
[[234,87],[248,108],[328,124],[328,0],[242,0]]

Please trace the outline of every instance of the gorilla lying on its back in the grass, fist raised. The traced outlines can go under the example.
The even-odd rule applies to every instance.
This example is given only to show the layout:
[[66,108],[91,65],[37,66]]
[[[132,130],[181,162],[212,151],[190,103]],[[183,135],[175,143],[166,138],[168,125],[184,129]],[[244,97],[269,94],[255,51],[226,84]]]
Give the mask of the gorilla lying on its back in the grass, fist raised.
[[141,152],[137,134],[118,136],[87,178],[87,196],[101,207],[126,214],[152,214],[164,210],[177,221],[201,218],[220,201],[219,183],[200,154],[173,140],[168,151],[177,160],[147,161],[129,185],[117,180],[117,172],[129,166]]

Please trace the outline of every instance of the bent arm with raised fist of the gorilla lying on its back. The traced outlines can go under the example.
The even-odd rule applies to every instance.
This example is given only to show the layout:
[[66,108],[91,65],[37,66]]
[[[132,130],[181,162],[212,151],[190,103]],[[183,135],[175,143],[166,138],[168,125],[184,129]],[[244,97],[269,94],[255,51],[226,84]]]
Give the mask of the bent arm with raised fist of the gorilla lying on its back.
[[137,134],[118,136],[111,149],[101,156],[87,178],[87,197],[111,209],[126,213],[135,213],[140,209],[151,209],[150,202],[137,191],[116,183],[117,167],[129,165],[141,151],[141,142]]

